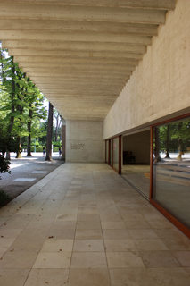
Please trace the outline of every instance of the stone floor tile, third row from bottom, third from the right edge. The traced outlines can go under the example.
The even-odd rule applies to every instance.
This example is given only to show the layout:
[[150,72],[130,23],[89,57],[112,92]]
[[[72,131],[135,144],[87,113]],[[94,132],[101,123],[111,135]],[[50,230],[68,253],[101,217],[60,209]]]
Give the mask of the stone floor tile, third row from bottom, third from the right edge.
[[136,245],[133,240],[104,240],[106,251],[133,251]]

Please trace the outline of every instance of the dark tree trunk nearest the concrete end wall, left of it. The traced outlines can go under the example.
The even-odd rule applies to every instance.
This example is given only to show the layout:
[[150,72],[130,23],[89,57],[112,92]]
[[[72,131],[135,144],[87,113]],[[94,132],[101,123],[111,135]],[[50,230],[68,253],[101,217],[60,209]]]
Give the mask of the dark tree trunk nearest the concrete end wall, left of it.
[[45,161],[52,161],[53,110],[54,106],[49,102]]

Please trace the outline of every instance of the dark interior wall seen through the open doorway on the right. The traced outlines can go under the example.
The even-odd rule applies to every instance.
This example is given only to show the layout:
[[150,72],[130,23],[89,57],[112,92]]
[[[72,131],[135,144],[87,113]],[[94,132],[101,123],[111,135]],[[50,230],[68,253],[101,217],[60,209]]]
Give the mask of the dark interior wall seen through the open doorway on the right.
[[138,164],[150,164],[150,131],[123,137],[123,151],[132,151]]

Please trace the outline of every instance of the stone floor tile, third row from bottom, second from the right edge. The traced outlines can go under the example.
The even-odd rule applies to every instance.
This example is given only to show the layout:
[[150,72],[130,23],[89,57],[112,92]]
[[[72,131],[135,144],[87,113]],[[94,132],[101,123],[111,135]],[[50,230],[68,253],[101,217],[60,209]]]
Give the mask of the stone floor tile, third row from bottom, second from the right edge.
[[169,250],[161,239],[142,239],[133,241],[135,242],[136,248],[139,251]]

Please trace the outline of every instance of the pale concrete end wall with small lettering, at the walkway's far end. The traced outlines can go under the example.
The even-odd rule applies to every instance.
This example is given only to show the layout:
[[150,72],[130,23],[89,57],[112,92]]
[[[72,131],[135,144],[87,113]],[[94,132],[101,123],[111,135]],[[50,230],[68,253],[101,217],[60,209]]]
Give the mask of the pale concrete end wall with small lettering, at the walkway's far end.
[[103,162],[103,122],[66,122],[66,162]]

